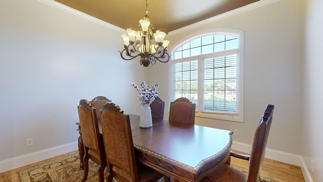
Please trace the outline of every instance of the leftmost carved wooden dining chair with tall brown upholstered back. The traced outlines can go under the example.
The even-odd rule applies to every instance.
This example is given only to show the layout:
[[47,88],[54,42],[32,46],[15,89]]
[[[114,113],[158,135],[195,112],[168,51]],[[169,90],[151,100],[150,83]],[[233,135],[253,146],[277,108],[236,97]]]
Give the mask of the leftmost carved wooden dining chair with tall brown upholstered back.
[[82,128],[82,140],[84,146],[84,175],[82,181],[87,179],[89,169],[89,159],[98,165],[99,181],[104,181],[104,168],[106,166],[105,152],[103,142],[99,133],[98,123],[96,121],[95,108],[86,100],[80,100],[78,106],[80,125]]

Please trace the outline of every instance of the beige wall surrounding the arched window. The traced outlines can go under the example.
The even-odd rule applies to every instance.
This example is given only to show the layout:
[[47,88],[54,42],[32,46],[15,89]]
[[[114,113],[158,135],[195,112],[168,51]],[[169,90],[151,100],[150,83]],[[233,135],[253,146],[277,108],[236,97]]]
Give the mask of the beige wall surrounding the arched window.
[[[244,123],[196,117],[195,123],[239,130],[235,142],[251,144],[256,123],[267,104],[275,105],[274,121],[267,148],[301,154],[303,1],[284,0],[228,18],[191,25],[170,32],[170,50],[198,32],[216,28],[244,31]],[[158,63],[157,63],[158,64]],[[150,82],[169,83],[169,65],[150,68]],[[163,75],[163,76],[158,76]],[[159,89],[170,102],[170,88]],[[166,108],[168,113],[169,107]],[[168,118],[168,115],[165,116]]]

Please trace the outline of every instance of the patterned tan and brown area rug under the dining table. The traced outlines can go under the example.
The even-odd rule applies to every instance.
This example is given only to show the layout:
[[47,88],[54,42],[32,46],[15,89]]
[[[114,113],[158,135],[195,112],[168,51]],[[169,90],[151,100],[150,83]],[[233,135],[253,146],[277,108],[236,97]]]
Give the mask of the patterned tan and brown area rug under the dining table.
[[[79,154],[74,153],[57,160],[49,161],[37,166],[33,166],[18,171],[21,182],[74,182],[81,181],[83,170],[79,170],[80,159]],[[247,172],[247,169],[234,166],[237,169]],[[89,173],[86,182],[98,181],[97,165],[89,160]],[[106,174],[106,171],[105,171]],[[162,182],[164,178],[158,180]],[[105,180],[104,180],[105,181]],[[261,176],[260,182],[278,182]]]

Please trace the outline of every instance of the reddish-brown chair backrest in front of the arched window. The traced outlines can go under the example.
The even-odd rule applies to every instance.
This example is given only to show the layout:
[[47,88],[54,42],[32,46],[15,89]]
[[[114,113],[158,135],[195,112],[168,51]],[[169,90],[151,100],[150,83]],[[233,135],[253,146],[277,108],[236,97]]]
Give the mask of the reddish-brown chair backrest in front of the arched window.
[[169,122],[195,123],[195,104],[187,98],[178,98],[171,102]]

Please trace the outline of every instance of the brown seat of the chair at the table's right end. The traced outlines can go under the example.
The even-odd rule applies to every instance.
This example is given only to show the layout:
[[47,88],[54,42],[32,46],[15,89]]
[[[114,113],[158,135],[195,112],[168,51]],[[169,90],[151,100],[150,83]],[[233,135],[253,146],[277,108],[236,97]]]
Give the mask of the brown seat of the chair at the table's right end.
[[224,164],[216,172],[213,172],[204,178],[211,182],[245,182],[247,175],[240,170]]

